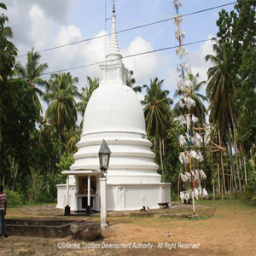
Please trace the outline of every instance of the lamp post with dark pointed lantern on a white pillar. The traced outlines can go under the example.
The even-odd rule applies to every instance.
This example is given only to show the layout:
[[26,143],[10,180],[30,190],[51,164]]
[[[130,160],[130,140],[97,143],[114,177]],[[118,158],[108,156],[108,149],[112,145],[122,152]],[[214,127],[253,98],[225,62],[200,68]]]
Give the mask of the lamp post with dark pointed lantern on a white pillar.
[[103,139],[101,148],[99,150],[99,160],[100,160],[100,186],[101,186],[101,227],[105,229],[107,224],[107,171],[109,165],[111,151],[108,148],[108,144]]

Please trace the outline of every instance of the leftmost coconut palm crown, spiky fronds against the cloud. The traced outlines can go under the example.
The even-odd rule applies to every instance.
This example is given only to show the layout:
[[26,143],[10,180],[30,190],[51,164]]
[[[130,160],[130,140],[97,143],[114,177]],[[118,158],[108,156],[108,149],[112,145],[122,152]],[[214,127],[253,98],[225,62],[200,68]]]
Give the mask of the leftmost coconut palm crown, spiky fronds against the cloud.
[[42,111],[42,105],[38,96],[43,96],[44,92],[40,90],[37,86],[45,86],[46,81],[41,79],[40,76],[48,68],[47,63],[39,64],[41,55],[38,52],[34,52],[34,49],[27,52],[27,62],[26,67],[24,67],[20,61],[15,65],[15,72],[18,77],[25,79],[28,86],[32,87],[33,90],[33,102],[36,104]]

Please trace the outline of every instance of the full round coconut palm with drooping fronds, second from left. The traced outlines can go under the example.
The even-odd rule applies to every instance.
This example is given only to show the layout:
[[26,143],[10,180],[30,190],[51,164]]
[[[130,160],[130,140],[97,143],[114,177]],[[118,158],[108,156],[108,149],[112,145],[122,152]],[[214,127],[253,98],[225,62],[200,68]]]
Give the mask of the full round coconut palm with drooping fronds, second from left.
[[46,93],[43,96],[49,104],[45,117],[55,121],[62,144],[65,143],[64,128],[71,131],[78,119],[75,108],[75,97],[80,97],[78,88],[75,86],[78,82],[79,79],[73,78],[70,73],[54,73],[49,79]]

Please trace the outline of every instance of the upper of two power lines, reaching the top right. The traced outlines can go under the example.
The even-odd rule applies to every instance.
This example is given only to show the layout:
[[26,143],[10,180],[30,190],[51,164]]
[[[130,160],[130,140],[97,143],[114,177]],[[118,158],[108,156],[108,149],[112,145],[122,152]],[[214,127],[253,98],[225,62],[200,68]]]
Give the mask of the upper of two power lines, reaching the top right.
[[[218,6],[215,6],[215,7],[212,7],[212,8],[208,8],[208,9],[201,9],[199,11],[195,11],[193,13],[190,13],[190,14],[187,14],[187,15],[183,15],[183,17],[186,17],[186,16],[189,16],[189,15],[197,15],[197,14],[200,14],[200,13],[203,13],[203,12],[206,12],[206,11],[209,11],[209,10],[212,10],[212,9],[218,9],[218,8],[222,8],[224,6],[228,6],[228,5],[231,5],[231,4],[235,4],[236,2],[232,2],[232,3],[225,3],[225,4],[222,4],[222,5],[218,5]],[[142,27],[145,27],[145,26],[152,26],[152,25],[155,25],[155,24],[159,24],[159,23],[162,23],[162,22],[166,22],[166,21],[169,21],[169,20],[174,20],[174,17],[172,18],[169,18],[169,19],[166,19],[166,20],[159,20],[159,21],[154,21],[152,23],[148,23],[148,24],[145,24],[145,25],[141,25],[141,26],[134,26],[134,27],[131,27],[131,28],[127,28],[127,29],[124,29],[124,30],[121,30],[117,33],[121,33],[121,32],[128,32],[128,31],[131,31],[131,30],[134,30],[134,29],[138,29],[138,28],[142,28]],[[70,44],[62,44],[62,45],[59,45],[59,46],[55,46],[55,47],[51,47],[51,48],[48,48],[48,49],[41,49],[41,50],[38,50],[37,52],[45,52],[45,51],[49,51],[49,50],[52,50],[52,49],[60,49],[60,48],[63,48],[63,47],[67,47],[69,45],[73,45],[73,44],[80,44],[80,43],[84,43],[84,42],[88,42],[90,40],[94,40],[94,39],[98,39],[98,38],[105,38],[107,37],[108,35],[102,35],[102,36],[98,36],[98,37],[94,37],[94,38],[87,38],[87,39],[84,39],[84,40],[80,40],[80,41],[77,41],[77,42],[73,42],[73,43],[70,43]],[[24,57],[26,55],[19,55],[17,56],[16,58],[20,58],[20,57]]]

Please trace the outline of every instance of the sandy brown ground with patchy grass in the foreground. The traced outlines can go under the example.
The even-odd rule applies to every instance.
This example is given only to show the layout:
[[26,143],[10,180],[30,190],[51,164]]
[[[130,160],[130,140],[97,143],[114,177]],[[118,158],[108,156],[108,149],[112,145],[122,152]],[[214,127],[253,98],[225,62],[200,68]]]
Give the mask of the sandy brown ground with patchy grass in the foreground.
[[[196,209],[201,220],[160,218],[163,211],[154,211],[152,217],[112,212],[102,239],[94,242],[74,241],[71,236],[9,236],[0,241],[0,255],[256,255],[256,210],[240,201],[211,201],[207,205]],[[40,207],[26,207],[25,212],[22,209],[10,211],[9,217],[25,214],[31,218],[39,217],[36,212],[42,213]],[[49,215],[59,216],[54,207],[50,209]],[[186,211],[191,207],[176,205],[166,210]]]

